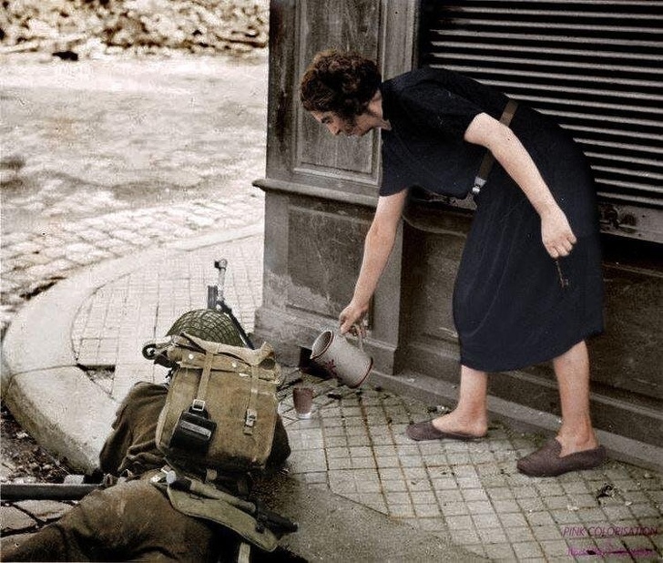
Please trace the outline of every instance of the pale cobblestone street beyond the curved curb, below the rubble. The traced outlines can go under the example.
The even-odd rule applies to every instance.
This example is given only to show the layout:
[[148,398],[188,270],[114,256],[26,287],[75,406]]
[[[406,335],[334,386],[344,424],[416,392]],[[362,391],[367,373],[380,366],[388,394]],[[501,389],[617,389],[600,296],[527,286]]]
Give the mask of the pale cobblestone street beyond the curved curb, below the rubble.
[[83,266],[262,220],[264,55],[4,63],[3,332]]

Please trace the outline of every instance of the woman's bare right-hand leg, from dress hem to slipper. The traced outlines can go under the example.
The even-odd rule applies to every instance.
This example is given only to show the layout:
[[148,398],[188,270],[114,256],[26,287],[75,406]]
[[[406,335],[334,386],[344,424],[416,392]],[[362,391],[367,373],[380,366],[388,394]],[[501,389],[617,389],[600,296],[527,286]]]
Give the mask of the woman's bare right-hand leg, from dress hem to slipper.
[[557,441],[561,456],[598,446],[589,415],[589,354],[586,343],[577,343],[553,360],[562,404],[562,425]]

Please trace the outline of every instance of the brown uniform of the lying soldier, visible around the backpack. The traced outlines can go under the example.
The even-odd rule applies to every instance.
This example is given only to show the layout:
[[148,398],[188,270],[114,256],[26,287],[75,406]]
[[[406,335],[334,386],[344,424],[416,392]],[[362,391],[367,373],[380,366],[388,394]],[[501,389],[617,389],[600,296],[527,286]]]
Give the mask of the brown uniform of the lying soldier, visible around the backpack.
[[[224,561],[234,559],[240,537],[207,520],[173,508],[150,479],[164,456],[155,443],[158,415],[166,401],[163,384],[136,384],[117,410],[113,431],[99,456],[100,471],[127,477],[87,495],[56,523],[42,528],[3,561]],[[280,417],[268,467],[290,455]],[[224,483],[226,488],[232,486]],[[238,491],[230,491],[236,494]]]

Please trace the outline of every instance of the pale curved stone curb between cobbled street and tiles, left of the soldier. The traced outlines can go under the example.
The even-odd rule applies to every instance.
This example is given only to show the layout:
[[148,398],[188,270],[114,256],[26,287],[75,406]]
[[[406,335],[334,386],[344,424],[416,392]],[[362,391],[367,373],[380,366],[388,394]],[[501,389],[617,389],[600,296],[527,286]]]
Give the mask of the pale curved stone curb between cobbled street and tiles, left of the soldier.
[[[105,261],[56,283],[18,312],[3,343],[0,389],[20,425],[40,444],[66,457],[76,470],[97,466],[101,446],[115,417],[117,402],[76,365],[71,333],[83,302],[100,287],[173,252],[202,249],[262,234],[262,221],[236,230],[176,241],[157,250]],[[45,384],[48,380],[48,384]],[[68,413],[76,409],[78,417]],[[89,415],[87,415],[89,414]]]

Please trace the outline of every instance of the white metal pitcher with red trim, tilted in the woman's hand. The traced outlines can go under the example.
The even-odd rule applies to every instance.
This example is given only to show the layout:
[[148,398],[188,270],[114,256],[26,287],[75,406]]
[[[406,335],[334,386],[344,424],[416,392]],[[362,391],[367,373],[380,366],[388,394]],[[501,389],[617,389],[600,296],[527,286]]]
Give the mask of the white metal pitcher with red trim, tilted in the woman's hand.
[[324,331],[315,339],[311,360],[344,385],[359,387],[371,373],[372,357],[363,351],[362,332],[358,329],[359,348],[336,331]]

